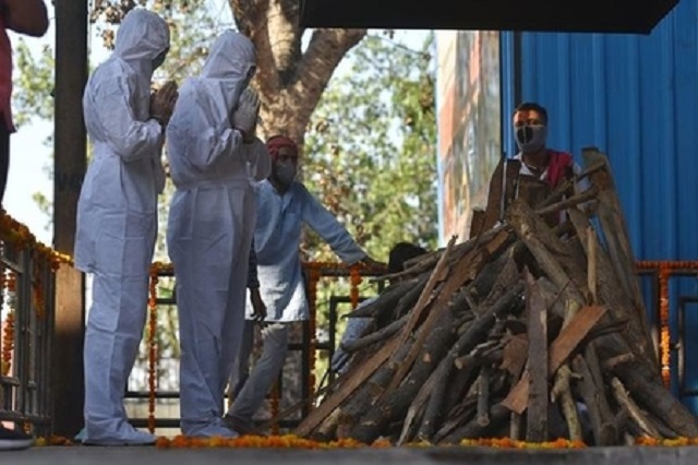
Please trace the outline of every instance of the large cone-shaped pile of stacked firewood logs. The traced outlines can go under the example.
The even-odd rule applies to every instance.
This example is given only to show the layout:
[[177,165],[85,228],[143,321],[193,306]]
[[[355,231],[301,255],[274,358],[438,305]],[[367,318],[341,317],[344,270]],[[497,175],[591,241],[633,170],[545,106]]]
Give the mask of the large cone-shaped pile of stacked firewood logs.
[[[698,436],[662,383],[607,159],[480,237],[418,260],[353,317],[347,371],[296,429],[396,444]],[[566,212],[555,228],[543,217]]]

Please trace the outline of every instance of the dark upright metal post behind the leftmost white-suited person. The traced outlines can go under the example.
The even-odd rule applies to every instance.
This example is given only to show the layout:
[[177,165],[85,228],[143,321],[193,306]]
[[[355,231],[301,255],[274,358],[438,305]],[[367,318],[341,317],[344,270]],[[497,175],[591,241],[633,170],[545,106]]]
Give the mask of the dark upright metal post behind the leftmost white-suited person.
[[[87,0],[55,0],[56,94],[53,247],[73,253],[80,188],[87,166],[82,95],[87,81]],[[72,437],[83,425],[83,274],[63,265],[56,276],[52,353],[53,433]]]

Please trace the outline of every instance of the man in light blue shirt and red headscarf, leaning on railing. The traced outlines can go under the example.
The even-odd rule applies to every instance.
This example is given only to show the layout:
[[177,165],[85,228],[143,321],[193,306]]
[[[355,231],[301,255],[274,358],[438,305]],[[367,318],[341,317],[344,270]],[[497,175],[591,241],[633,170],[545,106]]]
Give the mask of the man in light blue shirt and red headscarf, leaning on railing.
[[335,216],[301,182],[294,181],[296,143],[277,135],[267,141],[267,148],[273,170],[267,180],[255,187],[257,224],[254,233],[257,278],[266,306],[266,325],[262,330],[264,346],[248,377],[254,324],[260,311],[251,295],[242,348],[231,380],[234,402],[224,418],[229,428],[240,433],[254,430],[253,416],[279,375],[288,353],[289,323],[309,318],[300,260],[302,225],[308,224],[315,230],[345,263],[362,261],[377,265]]

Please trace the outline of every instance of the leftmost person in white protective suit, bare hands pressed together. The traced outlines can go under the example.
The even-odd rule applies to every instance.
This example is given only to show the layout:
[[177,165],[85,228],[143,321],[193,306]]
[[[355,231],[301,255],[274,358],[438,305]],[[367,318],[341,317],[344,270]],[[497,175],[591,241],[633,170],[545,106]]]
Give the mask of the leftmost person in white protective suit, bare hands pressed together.
[[86,444],[155,442],[129,424],[123,393],[145,325],[157,196],[165,182],[160,156],[177,100],[173,83],[151,94],[153,71],[169,44],[161,17],[129,12],[113,53],[92,74],[83,96],[94,144],[75,238],[75,266],[93,274],[84,348]]

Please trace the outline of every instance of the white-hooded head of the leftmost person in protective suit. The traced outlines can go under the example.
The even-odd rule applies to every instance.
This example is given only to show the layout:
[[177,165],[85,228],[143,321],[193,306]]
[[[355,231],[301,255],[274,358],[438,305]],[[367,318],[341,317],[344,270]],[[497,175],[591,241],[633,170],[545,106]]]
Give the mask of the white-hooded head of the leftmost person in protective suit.
[[170,47],[170,29],[157,14],[137,8],[121,21],[113,55],[137,70],[148,72],[163,64]]

